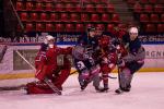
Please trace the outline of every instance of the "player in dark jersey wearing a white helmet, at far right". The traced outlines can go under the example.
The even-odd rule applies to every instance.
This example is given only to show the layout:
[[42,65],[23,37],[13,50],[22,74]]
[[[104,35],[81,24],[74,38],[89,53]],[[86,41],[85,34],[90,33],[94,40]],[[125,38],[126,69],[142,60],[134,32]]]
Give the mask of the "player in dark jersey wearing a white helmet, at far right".
[[119,88],[115,90],[118,94],[130,92],[133,74],[144,64],[145,51],[138,38],[138,33],[137,27],[131,27],[129,34],[122,36],[127,55],[118,57]]

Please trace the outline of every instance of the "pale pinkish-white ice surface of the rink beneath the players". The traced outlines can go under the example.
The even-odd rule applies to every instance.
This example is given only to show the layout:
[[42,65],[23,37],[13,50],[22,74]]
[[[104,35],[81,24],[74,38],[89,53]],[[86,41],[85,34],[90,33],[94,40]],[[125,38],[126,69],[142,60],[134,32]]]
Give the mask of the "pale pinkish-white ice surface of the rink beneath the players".
[[[27,81],[32,80],[0,81],[0,86]],[[71,75],[63,85],[62,96],[0,92],[0,109],[164,109],[164,73],[137,73],[130,93],[116,95],[117,80],[109,80],[109,87],[108,93],[96,93],[90,84],[81,92],[77,75]]]

